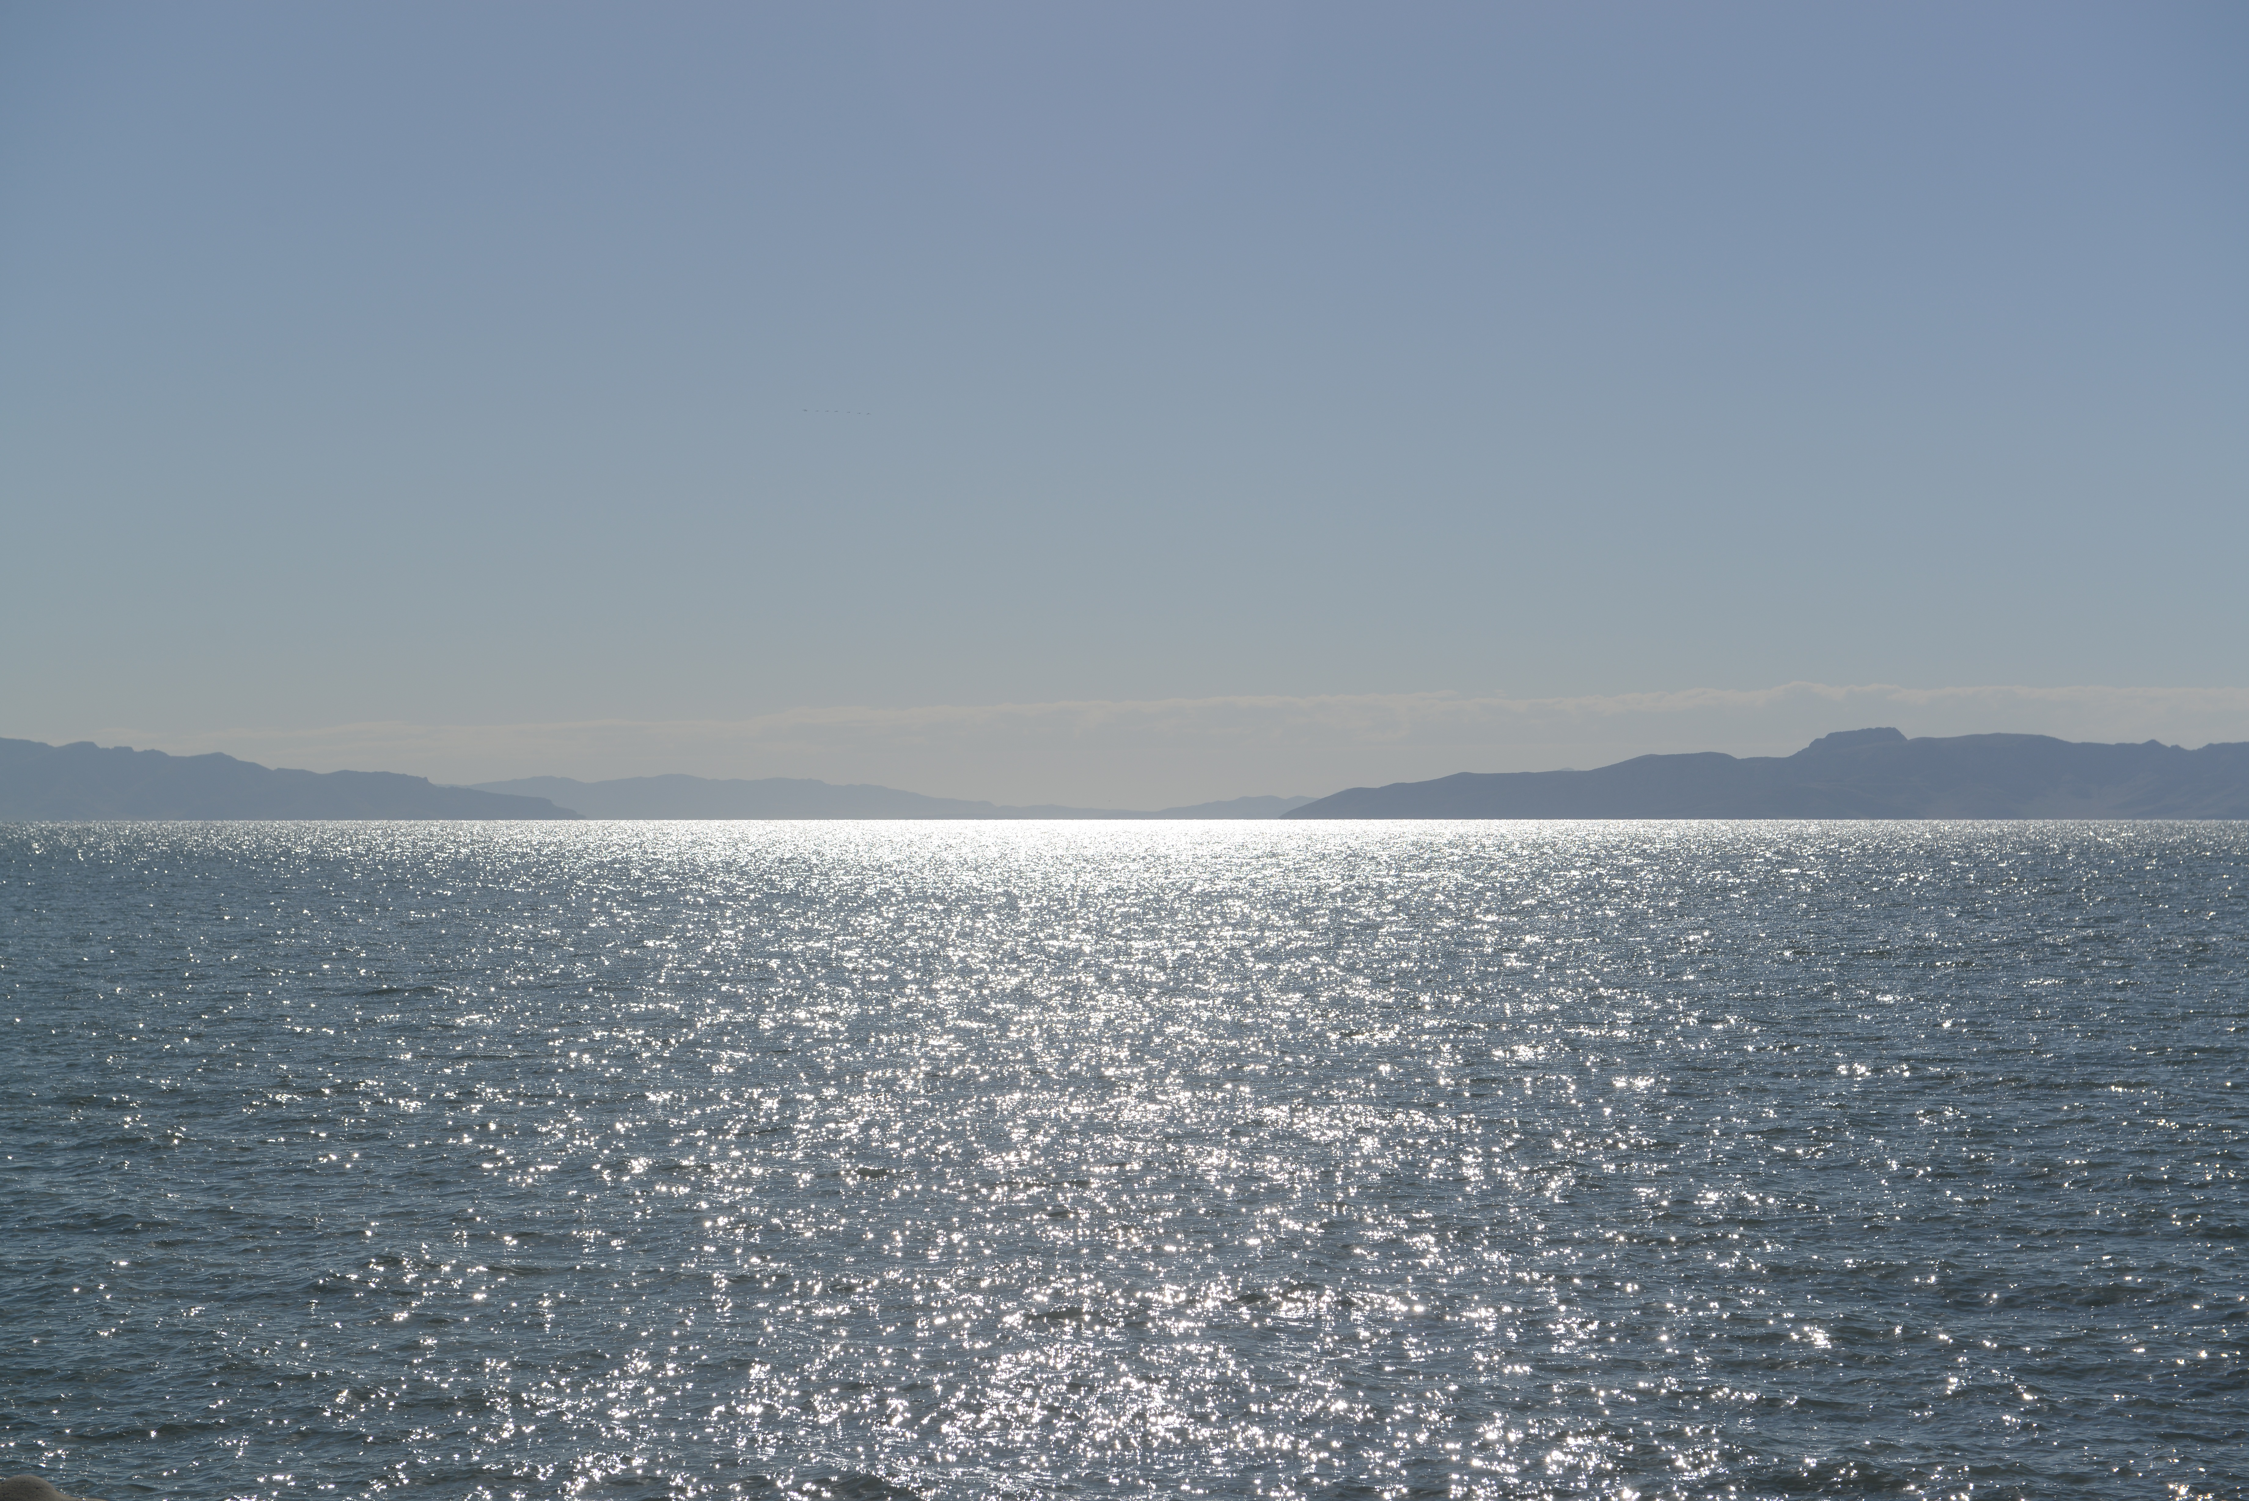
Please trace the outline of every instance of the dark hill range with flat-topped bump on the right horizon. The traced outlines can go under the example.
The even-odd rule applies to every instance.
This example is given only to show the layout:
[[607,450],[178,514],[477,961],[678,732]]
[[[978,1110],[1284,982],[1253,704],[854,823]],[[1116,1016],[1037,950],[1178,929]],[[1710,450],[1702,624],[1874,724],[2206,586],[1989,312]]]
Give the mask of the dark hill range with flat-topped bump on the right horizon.
[[1846,729],[1795,756],[1635,756],[1352,788],[1291,819],[2249,819],[2249,743],[1907,740]]

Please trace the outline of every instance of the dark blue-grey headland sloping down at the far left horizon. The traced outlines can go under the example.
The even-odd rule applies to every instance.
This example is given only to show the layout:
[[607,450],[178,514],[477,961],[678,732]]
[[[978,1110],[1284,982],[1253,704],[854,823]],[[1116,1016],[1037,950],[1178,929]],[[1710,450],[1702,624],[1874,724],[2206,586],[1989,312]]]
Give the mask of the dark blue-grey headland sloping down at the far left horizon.
[[90,740],[0,740],[0,819],[569,819],[542,797],[396,772],[277,772]]

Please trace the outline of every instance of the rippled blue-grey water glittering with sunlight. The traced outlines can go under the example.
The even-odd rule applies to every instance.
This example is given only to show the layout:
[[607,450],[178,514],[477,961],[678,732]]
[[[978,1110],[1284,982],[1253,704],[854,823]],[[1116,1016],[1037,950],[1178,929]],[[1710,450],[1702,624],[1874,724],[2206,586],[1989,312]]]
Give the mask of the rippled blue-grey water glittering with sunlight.
[[2249,826],[81,824],[0,882],[0,1474],[2249,1474]]

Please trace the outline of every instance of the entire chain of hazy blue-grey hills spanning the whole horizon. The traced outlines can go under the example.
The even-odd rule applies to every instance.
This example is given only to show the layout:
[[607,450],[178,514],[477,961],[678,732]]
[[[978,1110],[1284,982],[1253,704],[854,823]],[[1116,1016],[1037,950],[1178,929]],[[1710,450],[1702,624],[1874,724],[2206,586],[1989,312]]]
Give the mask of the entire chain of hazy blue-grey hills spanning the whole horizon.
[[1462,772],[1325,799],[1156,812],[1012,808],[767,776],[529,776],[445,788],[234,756],[0,740],[0,819],[2249,819],[2249,743],[1824,736],[1795,756],[1637,756],[1592,772]]

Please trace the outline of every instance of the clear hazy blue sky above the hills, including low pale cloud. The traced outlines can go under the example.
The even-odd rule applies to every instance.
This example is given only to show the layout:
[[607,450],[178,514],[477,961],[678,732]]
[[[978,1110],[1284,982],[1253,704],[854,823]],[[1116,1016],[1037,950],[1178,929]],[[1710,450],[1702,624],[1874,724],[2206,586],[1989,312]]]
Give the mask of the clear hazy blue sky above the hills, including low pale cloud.
[[2245,77],[2238,5],[4,0],[0,736],[2242,740]]

